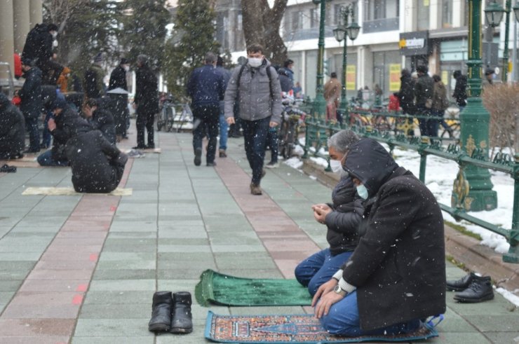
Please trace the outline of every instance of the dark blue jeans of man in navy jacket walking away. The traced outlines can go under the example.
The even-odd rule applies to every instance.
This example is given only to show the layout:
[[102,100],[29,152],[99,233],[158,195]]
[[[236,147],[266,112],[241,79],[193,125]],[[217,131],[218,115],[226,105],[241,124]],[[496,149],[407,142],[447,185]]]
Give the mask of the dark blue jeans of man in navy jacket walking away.
[[218,121],[220,121],[220,105],[194,105],[194,121],[200,121],[193,130],[193,149],[202,149],[202,139],[207,135],[207,163],[215,162]]

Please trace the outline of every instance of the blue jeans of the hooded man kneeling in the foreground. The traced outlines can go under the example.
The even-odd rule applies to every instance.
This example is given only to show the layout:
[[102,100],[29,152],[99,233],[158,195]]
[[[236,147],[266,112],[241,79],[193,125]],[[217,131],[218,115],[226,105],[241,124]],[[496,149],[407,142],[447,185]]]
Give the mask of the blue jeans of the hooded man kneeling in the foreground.
[[[333,292],[333,291],[332,291]],[[346,295],[341,301],[330,307],[328,315],[319,319],[321,325],[331,334],[342,336],[364,336],[379,334],[396,334],[415,331],[420,326],[420,320],[393,324],[383,329],[364,331],[360,329],[360,317],[358,315],[357,291]]]

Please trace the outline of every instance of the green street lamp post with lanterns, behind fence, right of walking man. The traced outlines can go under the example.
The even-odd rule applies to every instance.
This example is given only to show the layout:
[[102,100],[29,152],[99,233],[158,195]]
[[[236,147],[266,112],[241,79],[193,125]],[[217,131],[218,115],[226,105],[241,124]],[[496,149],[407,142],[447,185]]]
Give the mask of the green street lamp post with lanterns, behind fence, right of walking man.
[[[351,15],[351,25],[349,25],[349,17]],[[340,11],[341,22],[339,27],[333,30],[335,39],[340,43],[344,40],[344,50],[342,52],[342,90],[341,90],[341,112],[346,123],[349,123],[348,113],[348,97],[346,97],[346,69],[348,67],[348,51],[347,42],[348,37],[351,41],[355,41],[360,31],[360,26],[355,22],[355,13],[353,12],[353,6],[348,4],[346,7],[341,7]]]

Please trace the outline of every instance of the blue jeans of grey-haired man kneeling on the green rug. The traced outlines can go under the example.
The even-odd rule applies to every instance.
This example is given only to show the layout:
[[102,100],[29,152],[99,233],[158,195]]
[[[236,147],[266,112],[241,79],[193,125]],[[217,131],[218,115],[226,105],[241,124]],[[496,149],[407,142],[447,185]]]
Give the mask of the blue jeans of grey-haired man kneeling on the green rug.
[[299,263],[295,268],[295,278],[304,287],[308,287],[310,295],[314,296],[321,284],[331,280],[333,274],[337,273],[352,253],[343,252],[332,256],[330,249],[323,249]]

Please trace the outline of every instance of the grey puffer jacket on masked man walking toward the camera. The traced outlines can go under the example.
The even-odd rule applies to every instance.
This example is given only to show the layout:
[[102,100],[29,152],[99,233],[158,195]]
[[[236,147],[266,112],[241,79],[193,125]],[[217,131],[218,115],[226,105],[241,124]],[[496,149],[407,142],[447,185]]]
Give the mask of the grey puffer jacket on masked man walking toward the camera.
[[[271,79],[267,75],[270,68]],[[234,117],[234,102],[239,94],[240,118],[245,121],[257,121],[271,117],[271,121],[281,123],[281,85],[276,69],[267,59],[258,68],[245,64],[245,69],[237,85],[241,66],[236,67],[225,91],[225,118]],[[269,85],[270,81],[270,85]],[[238,92],[239,88],[239,92]]]

